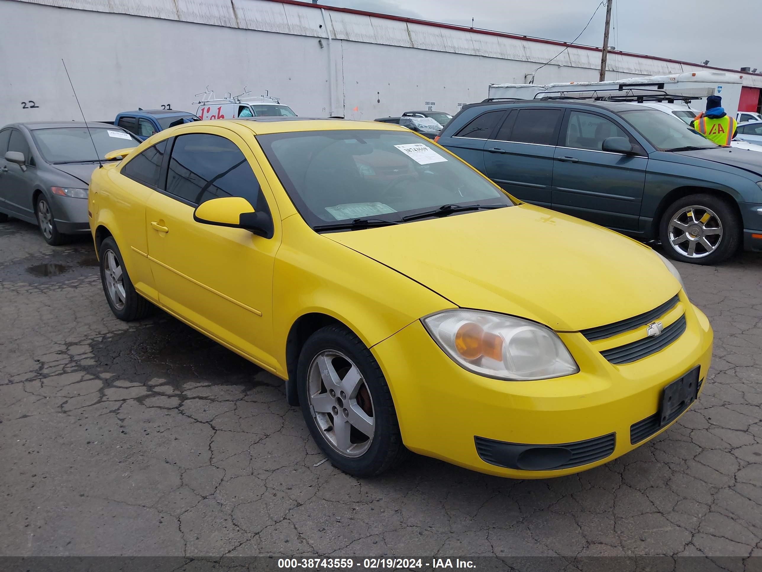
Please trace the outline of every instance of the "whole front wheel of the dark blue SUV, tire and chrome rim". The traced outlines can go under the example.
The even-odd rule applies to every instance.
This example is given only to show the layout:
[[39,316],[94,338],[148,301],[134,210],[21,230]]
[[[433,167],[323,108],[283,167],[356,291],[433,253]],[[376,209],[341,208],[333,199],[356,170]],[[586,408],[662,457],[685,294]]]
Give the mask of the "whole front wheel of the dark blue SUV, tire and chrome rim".
[[711,194],[675,201],[664,213],[660,230],[664,253],[680,262],[716,264],[738,249],[738,215]]

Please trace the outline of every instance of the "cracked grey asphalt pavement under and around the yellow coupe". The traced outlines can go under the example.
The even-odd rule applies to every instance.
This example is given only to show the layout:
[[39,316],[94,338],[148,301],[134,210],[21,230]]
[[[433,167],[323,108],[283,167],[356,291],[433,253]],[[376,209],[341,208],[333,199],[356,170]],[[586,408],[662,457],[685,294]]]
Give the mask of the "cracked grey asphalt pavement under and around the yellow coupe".
[[115,319],[87,237],[0,225],[0,554],[762,555],[762,255],[678,265],[715,329],[700,400],[623,458],[358,480],[283,384],[174,318]]

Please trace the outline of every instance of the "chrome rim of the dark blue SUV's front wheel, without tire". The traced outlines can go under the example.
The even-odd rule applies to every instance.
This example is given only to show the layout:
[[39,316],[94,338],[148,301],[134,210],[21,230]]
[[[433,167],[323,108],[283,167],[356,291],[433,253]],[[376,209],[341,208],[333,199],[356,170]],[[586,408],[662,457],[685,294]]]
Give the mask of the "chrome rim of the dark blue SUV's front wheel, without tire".
[[678,254],[700,259],[715,252],[722,242],[722,222],[707,207],[684,207],[670,220],[668,236]]

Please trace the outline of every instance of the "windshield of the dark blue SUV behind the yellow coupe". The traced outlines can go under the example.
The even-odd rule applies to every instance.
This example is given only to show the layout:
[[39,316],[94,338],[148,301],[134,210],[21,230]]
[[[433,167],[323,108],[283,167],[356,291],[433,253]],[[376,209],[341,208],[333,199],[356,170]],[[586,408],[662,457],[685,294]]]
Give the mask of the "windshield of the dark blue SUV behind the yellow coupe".
[[688,127],[684,121],[670,114],[643,109],[621,111],[621,117],[660,151],[674,151],[686,147],[712,149],[718,147],[701,133]]

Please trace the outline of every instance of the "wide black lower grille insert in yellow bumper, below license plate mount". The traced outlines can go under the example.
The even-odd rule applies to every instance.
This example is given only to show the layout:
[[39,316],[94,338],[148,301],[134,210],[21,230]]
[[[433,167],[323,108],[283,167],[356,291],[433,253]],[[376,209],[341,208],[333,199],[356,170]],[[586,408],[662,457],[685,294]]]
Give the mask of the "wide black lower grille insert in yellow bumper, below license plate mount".
[[561,445],[523,445],[474,437],[482,461],[523,471],[558,471],[607,458],[616,446],[616,433]]

